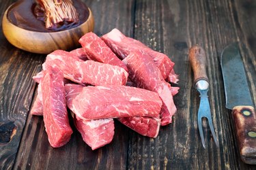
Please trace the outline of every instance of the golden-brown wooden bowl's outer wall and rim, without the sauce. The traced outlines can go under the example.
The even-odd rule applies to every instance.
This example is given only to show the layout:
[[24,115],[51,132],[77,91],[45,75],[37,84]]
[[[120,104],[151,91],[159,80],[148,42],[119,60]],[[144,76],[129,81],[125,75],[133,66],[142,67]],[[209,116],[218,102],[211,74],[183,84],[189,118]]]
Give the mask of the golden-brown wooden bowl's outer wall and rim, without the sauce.
[[10,7],[3,15],[3,34],[12,45],[28,52],[49,54],[54,50],[72,50],[79,46],[79,39],[85,33],[94,31],[94,16],[89,8],[88,19],[78,27],[65,31],[45,33],[29,31],[12,24],[8,20]]

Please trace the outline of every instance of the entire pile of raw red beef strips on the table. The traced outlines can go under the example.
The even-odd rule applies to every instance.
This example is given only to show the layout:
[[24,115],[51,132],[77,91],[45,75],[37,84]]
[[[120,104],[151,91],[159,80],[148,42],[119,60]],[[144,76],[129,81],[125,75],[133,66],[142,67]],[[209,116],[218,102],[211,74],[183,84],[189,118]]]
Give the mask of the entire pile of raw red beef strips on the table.
[[83,48],[48,54],[33,77],[38,95],[31,114],[44,117],[51,146],[70,140],[67,106],[92,150],[113,139],[113,118],[148,137],[171,123],[178,88],[169,84],[177,82],[177,75],[168,56],[117,29],[102,37],[87,33],[79,42]]

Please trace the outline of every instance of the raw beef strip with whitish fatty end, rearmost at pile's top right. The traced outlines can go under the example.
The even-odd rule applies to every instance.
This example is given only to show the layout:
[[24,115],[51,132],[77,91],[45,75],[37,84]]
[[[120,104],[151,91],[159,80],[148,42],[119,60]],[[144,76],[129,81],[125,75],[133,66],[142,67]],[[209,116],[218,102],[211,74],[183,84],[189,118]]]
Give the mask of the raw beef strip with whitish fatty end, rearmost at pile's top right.
[[137,50],[141,50],[149,54],[153,58],[158,69],[160,69],[162,77],[164,79],[168,79],[174,63],[167,55],[148,48],[145,44],[141,43],[141,41],[126,37],[118,29],[113,29],[111,32],[106,33],[102,36],[102,39],[111,48],[111,50],[121,58],[126,58],[130,52]]

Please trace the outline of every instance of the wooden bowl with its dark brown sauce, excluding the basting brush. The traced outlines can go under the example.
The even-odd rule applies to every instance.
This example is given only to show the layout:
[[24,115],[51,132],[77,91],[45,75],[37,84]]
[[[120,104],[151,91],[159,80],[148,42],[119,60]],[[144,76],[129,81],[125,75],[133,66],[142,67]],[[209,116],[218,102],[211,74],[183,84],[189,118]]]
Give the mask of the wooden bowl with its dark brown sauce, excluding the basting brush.
[[72,0],[79,20],[46,28],[44,14],[35,0],[21,0],[10,5],[3,16],[3,33],[10,43],[29,52],[48,54],[54,50],[72,50],[79,39],[94,30],[91,10],[80,0]]

